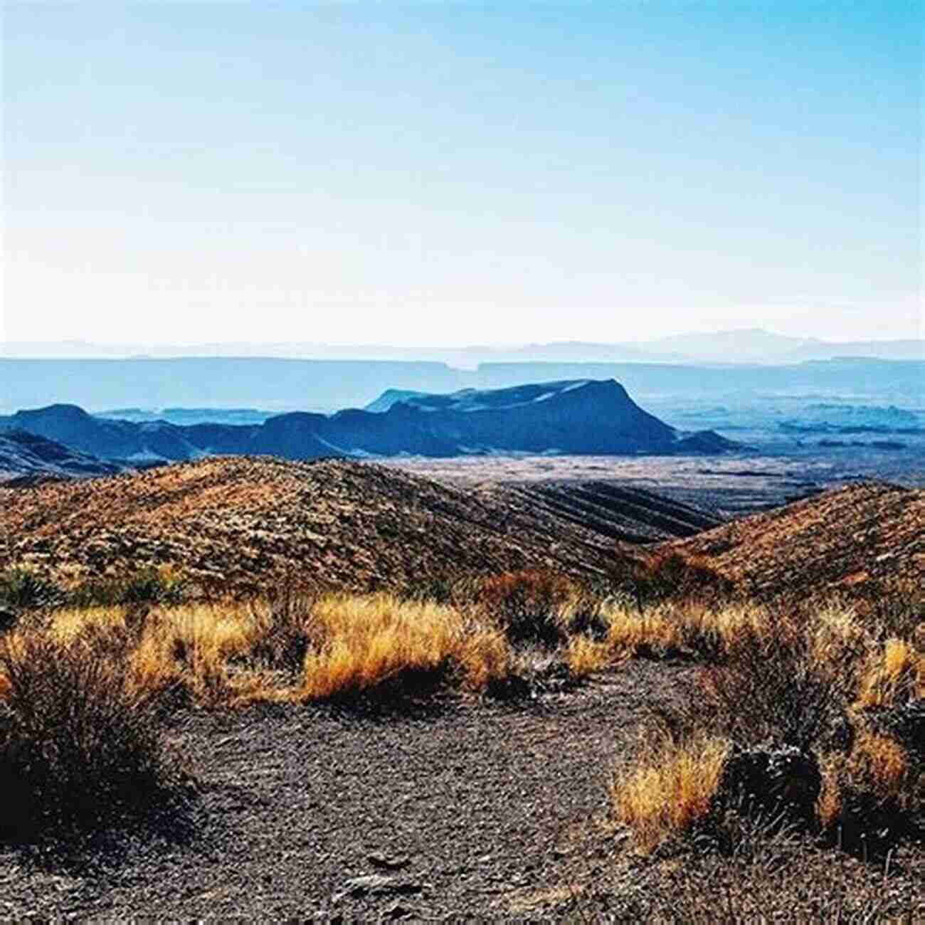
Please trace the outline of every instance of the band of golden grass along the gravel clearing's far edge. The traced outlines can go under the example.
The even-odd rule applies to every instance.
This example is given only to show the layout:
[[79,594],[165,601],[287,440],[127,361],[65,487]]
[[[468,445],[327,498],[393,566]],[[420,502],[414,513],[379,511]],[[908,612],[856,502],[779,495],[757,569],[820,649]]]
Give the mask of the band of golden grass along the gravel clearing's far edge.
[[[523,578],[518,580],[523,584]],[[512,581],[489,588],[497,591],[502,609],[510,604],[513,592],[507,585]],[[536,581],[527,589],[536,591]],[[539,590],[549,598],[563,633],[561,658],[576,676],[638,656],[687,653],[709,660],[738,646],[761,645],[762,639],[785,632],[784,624],[791,630],[796,626],[754,604],[727,603],[715,610],[692,599],[640,612],[598,599],[593,603],[606,633],[597,640],[568,629],[579,604],[586,606],[584,598],[574,589],[566,595],[558,585],[550,587]],[[515,583],[514,591],[521,590]],[[542,597],[539,591],[537,596]],[[67,645],[87,632],[112,631],[114,639],[123,640],[123,670],[133,689],[183,687],[200,702],[228,704],[333,697],[367,690],[401,672],[444,672],[446,680],[479,691],[516,667],[498,617],[485,600],[465,609],[385,593],[335,594],[301,600],[283,614],[266,602],[227,601],[160,606],[143,617],[124,606],[68,609],[49,617],[44,632]],[[807,628],[819,665],[833,672],[861,667],[857,709],[925,696],[925,656],[914,643],[890,639],[870,655],[870,634],[845,607],[821,609]],[[293,635],[302,635],[307,644],[301,673],[295,671],[298,664],[282,671],[270,651],[280,638],[285,643]],[[3,687],[0,678],[0,693]]]

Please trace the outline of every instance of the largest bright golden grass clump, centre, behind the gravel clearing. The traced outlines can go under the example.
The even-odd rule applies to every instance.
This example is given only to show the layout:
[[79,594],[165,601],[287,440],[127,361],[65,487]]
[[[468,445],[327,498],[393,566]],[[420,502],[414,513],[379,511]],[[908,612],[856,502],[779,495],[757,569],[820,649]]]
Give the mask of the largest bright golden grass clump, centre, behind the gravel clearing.
[[363,691],[403,673],[462,672],[480,689],[509,668],[500,632],[467,624],[460,611],[388,594],[330,595],[314,607],[320,645],[305,656],[302,697]]

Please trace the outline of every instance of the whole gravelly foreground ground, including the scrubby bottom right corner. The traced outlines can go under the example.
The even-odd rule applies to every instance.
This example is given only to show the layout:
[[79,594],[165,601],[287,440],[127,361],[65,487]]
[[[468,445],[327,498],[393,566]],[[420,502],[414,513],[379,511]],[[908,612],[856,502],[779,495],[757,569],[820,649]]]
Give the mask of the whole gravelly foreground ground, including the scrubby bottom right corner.
[[192,808],[67,851],[0,847],[0,918],[925,915],[921,846],[894,849],[886,870],[803,843],[739,862],[635,852],[609,817],[611,776],[690,671],[635,661],[525,703],[450,699],[418,714],[179,713],[167,734],[189,757]]

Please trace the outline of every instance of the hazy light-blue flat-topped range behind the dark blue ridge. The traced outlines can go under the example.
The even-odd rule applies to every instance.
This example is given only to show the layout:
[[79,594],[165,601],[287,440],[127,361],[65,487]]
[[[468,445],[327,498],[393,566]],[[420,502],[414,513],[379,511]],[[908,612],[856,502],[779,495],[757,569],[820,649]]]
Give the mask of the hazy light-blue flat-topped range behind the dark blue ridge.
[[[785,365],[509,362],[476,369],[443,363],[358,360],[205,359],[10,360],[0,358],[0,414],[66,401],[93,413],[173,408],[263,416],[362,408],[388,388],[453,392],[511,388],[563,379],[616,379],[636,401],[662,413],[668,404],[734,405],[773,396],[808,401],[925,407],[925,362],[845,359]],[[109,412],[112,413],[112,412]],[[116,412],[117,414],[117,412]],[[192,424],[189,416],[177,424]],[[228,423],[228,417],[223,417]],[[235,423],[259,423],[238,417]]]

